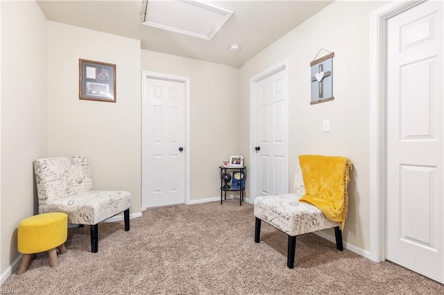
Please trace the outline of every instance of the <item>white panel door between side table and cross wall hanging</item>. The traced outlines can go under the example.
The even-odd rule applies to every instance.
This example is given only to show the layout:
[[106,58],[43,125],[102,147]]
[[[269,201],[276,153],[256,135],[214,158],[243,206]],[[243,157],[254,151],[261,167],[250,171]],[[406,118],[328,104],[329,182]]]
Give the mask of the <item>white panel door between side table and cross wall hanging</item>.
[[288,193],[286,71],[256,83],[257,193]]

